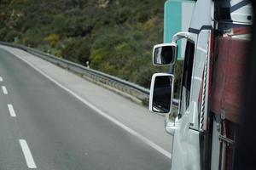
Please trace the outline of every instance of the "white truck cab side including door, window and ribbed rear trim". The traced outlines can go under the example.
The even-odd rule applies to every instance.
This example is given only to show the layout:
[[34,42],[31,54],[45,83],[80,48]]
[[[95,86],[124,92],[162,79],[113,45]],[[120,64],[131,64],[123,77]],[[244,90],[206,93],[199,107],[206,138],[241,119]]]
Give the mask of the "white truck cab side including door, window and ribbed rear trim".
[[172,170],[200,170],[207,164],[206,138],[211,30],[190,33],[186,42],[174,134]]

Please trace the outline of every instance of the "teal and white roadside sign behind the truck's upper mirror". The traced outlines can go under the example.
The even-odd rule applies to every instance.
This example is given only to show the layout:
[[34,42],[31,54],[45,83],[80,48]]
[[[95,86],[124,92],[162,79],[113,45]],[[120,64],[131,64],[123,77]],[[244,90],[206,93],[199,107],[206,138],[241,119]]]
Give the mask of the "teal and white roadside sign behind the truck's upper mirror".
[[[172,42],[179,31],[188,31],[194,0],[167,0],[165,3],[164,42]],[[178,41],[177,59],[183,59],[185,41]]]

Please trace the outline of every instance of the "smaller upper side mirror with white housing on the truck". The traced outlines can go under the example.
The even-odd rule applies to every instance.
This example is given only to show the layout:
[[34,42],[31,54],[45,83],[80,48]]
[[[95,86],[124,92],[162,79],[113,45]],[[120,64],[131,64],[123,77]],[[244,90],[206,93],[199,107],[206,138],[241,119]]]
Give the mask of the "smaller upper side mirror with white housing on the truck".
[[173,65],[177,58],[177,43],[161,43],[153,48],[153,65]]

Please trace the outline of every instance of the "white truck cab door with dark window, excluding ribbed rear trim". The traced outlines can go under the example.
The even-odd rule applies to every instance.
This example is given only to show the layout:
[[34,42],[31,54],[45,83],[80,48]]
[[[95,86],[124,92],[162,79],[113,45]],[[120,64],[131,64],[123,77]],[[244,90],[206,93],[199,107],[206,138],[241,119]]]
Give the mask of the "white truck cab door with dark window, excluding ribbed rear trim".
[[[195,36],[196,37],[196,36]],[[196,39],[196,38],[193,38]],[[179,128],[174,134],[174,144],[172,151],[172,170],[199,170],[199,132],[190,129],[191,94],[193,86],[193,69],[196,54],[196,41],[187,39],[183,61],[183,76],[180,91],[180,105],[178,109]]]

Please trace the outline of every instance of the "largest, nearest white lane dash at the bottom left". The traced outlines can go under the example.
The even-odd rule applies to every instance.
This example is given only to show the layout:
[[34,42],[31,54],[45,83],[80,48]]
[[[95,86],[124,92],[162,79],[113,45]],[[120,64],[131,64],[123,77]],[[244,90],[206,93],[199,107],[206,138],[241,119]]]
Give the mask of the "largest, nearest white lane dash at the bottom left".
[[19,141],[20,141],[21,150],[23,151],[23,155],[24,155],[25,160],[26,160],[27,167],[32,168],[32,169],[37,168],[36,163],[33,159],[32,153],[29,150],[29,147],[26,143],[26,140],[25,139],[19,139]]

